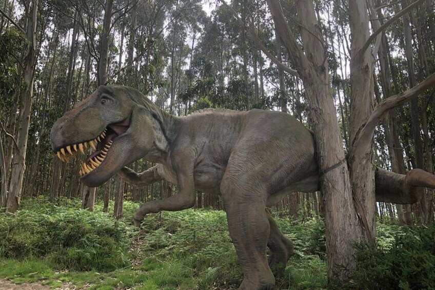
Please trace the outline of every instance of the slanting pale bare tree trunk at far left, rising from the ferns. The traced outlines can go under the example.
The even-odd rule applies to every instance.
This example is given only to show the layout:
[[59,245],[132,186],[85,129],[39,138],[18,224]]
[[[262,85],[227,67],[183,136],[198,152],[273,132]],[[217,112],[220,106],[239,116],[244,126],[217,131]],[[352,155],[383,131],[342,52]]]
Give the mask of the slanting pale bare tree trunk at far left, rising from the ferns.
[[[30,3],[29,3],[30,4]],[[6,204],[7,212],[15,212],[19,207],[23,178],[26,170],[26,151],[29,136],[30,111],[33,99],[34,68],[36,64],[36,26],[38,0],[32,1],[32,10],[27,15],[27,52],[24,63],[24,92],[21,98],[18,116],[18,150],[14,153],[14,164],[11,171],[10,192]]]

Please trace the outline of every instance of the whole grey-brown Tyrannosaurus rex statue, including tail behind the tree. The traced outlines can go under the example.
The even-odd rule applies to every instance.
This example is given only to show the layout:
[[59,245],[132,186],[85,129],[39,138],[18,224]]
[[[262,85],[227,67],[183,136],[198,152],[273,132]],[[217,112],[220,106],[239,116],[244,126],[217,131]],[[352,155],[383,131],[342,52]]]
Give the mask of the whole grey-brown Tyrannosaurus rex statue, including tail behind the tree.
[[[142,205],[136,223],[150,212],[192,207],[196,189],[222,195],[241,289],[273,288],[270,266],[286,264],[292,251],[266,206],[292,191],[319,189],[313,136],[281,112],[202,110],[179,118],[135,89],[100,86],[55,122],[51,140],[63,161],[85,154],[88,144],[95,150],[80,168],[90,187],[117,172],[136,185],[163,178],[178,185],[179,194]],[[158,165],[140,175],[124,168],[141,158]],[[422,187],[435,188],[434,176],[418,169],[406,176],[378,169],[375,182],[377,200],[394,203],[416,202]]]

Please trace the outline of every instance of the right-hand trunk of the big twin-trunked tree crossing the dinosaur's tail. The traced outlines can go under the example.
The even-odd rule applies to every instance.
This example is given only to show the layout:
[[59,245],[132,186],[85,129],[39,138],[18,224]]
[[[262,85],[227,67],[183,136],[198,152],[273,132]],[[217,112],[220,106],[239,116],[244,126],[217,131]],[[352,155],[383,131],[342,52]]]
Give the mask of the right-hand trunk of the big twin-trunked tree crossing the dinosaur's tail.
[[[350,0],[350,180],[355,207],[360,208],[361,238],[374,243],[376,203],[374,197],[373,142],[365,140],[356,147],[359,131],[373,111],[373,72],[371,51],[362,51],[367,42],[369,20],[367,2]],[[358,211],[358,210],[357,210]]]

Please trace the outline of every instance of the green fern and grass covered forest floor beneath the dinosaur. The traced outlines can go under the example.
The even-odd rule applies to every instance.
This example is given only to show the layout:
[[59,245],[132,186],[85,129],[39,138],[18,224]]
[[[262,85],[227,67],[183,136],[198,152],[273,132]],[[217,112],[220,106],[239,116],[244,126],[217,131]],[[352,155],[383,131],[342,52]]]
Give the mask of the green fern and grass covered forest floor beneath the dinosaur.
[[[125,202],[124,218],[118,221],[102,212],[101,203],[94,212],[78,209],[80,200],[52,204],[44,198],[29,199],[15,216],[0,213],[0,289],[229,290],[239,286],[242,272],[224,211],[162,212],[147,216],[136,228],[131,217],[138,206]],[[278,212],[274,215],[294,243],[294,254],[283,277],[276,279],[276,288],[325,289],[322,219],[302,213],[299,220],[290,221]],[[435,226],[424,230],[420,235],[379,223],[377,247],[359,247],[358,261],[364,270],[355,273],[353,283],[373,289],[433,285]],[[407,238],[401,242],[398,237]],[[418,264],[392,262],[398,257]],[[384,284],[373,284],[379,281]]]

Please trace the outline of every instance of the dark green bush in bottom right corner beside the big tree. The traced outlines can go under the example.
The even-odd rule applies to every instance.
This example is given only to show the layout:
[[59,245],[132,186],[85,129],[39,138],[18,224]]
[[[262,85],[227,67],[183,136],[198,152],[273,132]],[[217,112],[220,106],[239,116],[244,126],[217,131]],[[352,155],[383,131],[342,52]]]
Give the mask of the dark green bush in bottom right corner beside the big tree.
[[[350,287],[432,288],[435,285],[435,225],[428,228],[390,227],[388,234],[385,228],[380,228],[384,236],[380,239],[382,243],[357,245],[358,270],[353,273]],[[386,246],[390,248],[386,249]]]

